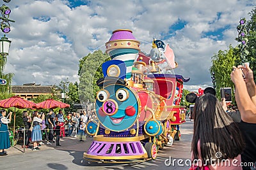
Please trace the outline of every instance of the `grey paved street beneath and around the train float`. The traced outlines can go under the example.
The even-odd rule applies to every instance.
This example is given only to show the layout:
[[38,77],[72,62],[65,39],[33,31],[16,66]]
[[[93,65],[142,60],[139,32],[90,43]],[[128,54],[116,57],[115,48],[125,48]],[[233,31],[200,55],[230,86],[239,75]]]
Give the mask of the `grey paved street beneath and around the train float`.
[[[22,153],[20,145],[7,150],[6,157],[0,157],[1,169],[188,169],[188,166],[178,166],[174,159],[186,160],[190,158],[191,139],[193,136],[193,122],[187,120],[180,128],[181,140],[174,141],[173,146],[165,147],[157,153],[156,160],[132,164],[99,164],[83,159],[83,152],[87,151],[93,138],[87,138],[86,142],[80,142],[76,138],[61,138],[61,146],[41,146],[41,150],[32,151],[26,149]],[[175,165],[166,166],[170,159]],[[182,162],[181,164],[184,164]]]

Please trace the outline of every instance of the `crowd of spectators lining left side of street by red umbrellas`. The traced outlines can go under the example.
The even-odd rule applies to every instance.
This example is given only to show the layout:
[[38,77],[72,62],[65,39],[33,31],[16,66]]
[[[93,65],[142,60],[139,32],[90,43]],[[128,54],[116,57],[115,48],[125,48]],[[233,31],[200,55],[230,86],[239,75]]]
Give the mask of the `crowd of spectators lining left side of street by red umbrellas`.
[[[10,148],[10,134],[8,124],[12,120],[12,112],[6,115],[6,110],[0,111],[0,156],[7,155],[4,151]],[[25,138],[22,148],[40,150],[41,145],[60,145],[60,138],[65,136],[74,137],[79,141],[86,139],[86,124],[95,118],[93,111],[70,112],[63,114],[62,110],[54,113],[52,109],[48,113],[23,111],[22,120],[24,123]],[[32,146],[31,146],[32,145]]]

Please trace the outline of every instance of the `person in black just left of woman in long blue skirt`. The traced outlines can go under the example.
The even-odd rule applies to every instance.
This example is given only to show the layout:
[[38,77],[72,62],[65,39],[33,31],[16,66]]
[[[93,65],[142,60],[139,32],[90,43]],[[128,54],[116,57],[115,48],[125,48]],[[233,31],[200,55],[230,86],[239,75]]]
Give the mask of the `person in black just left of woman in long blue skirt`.
[[30,117],[30,115],[28,115],[28,111],[23,111],[22,113],[22,119],[23,119],[23,123],[24,123],[24,126],[25,126],[25,146],[22,145],[22,148],[23,147],[26,147],[26,148],[29,148],[29,138],[31,138],[31,131],[29,130],[30,127],[31,127],[31,122],[32,122],[32,119]]

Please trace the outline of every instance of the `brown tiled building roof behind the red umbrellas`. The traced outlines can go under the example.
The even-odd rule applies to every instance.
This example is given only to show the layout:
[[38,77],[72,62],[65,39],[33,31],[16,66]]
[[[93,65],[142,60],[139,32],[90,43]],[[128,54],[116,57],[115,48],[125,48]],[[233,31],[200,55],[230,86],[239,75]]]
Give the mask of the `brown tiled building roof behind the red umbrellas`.
[[45,93],[52,94],[52,86],[40,85],[12,85],[12,92],[15,93]]

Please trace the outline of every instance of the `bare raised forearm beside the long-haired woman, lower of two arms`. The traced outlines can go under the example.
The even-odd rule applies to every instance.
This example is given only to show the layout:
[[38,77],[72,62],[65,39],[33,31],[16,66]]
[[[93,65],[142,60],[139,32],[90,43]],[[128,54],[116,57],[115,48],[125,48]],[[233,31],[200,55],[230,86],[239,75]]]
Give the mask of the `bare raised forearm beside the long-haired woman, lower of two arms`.
[[241,69],[233,66],[231,80],[236,85],[236,102],[244,122],[256,123],[256,105],[248,94]]

